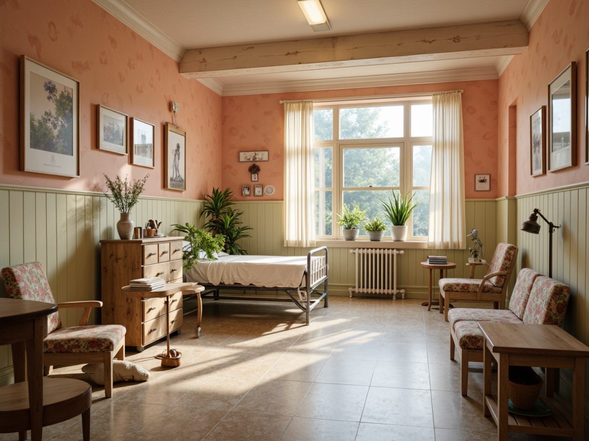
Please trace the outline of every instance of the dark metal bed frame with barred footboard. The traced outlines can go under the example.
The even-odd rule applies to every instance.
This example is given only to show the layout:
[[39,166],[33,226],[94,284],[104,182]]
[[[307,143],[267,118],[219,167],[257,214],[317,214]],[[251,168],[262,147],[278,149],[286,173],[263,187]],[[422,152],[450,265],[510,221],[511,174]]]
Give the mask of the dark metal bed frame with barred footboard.
[[[319,259],[312,259],[316,253],[323,252],[324,256],[319,256]],[[203,299],[214,300],[263,300],[266,302],[294,302],[300,310],[306,313],[306,324],[310,323],[310,313],[317,306],[317,304],[324,300],[323,308],[327,308],[327,247],[321,246],[310,250],[307,253],[307,269],[303,276],[305,280],[304,299],[299,298],[302,286],[299,287],[278,287],[265,288],[262,286],[253,285],[212,285],[211,283],[200,283],[205,290],[201,293]],[[323,290],[317,290],[317,287],[323,285]],[[254,291],[282,291],[286,293],[289,298],[268,298],[268,297],[246,297],[246,296],[227,296],[221,295],[220,290],[254,290]],[[312,296],[315,298],[312,299]]]

